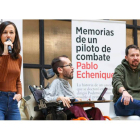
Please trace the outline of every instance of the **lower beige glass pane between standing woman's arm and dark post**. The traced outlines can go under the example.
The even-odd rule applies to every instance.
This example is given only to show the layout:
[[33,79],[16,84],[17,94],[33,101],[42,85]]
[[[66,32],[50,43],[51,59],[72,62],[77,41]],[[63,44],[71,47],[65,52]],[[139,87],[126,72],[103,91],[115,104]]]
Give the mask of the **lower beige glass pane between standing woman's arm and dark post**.
[[39,83],[40,83],[39,69],[24,68],[24,96],[31,94],[30,90],[28,89],[29,85],[39,86],[40,85]]

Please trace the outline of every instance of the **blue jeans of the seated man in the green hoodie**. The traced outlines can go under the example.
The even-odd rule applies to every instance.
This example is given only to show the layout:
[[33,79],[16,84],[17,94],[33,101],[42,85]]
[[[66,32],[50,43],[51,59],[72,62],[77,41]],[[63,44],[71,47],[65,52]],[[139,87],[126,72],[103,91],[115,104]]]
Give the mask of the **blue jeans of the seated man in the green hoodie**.
[[140,116],[140,100],[133,99],[133,102],[130,100],[129,105],[124,105],[124,102],[121,102],[121,98],[122,96],[114,104],[115,114],[117,116]]

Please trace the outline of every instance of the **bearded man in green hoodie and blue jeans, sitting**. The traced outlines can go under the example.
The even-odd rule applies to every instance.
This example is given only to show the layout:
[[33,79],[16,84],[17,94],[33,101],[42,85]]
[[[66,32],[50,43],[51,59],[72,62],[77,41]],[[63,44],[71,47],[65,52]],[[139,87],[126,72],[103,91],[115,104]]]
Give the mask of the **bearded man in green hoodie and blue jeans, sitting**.
[[136,45],[129,45],[125,54],[112,79],[115,113],[140,116],[140,50]]

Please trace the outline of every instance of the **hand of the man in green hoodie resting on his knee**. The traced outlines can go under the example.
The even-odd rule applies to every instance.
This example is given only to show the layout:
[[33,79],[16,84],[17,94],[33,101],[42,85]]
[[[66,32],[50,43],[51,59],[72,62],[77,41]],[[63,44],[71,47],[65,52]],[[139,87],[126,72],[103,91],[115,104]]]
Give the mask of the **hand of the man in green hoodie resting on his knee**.
[[123,101],[123,99],[124,105],[129,105],[130,100],[133,102],[133,97],[127,91],[123,92],[121,102]]

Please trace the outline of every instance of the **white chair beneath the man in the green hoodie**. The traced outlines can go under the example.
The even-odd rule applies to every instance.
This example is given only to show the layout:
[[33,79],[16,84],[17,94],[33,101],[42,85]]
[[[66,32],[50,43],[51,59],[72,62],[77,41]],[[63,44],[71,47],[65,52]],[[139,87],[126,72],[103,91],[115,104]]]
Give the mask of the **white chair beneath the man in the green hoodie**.
[[[113,95],[110,95],[110,100],[113,100]],[[133,116],[116,116],[114,110],[114,102],[110,102],[109,116],[112,120],[140,120],[140,117],[137,115]]]

